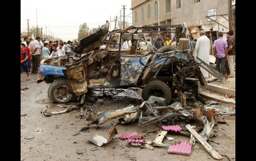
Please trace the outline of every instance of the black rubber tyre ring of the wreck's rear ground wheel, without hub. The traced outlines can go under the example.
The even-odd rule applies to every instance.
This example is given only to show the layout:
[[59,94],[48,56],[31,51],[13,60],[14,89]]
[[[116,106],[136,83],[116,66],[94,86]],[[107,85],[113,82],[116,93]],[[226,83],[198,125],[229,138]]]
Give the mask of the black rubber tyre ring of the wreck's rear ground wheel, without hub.
[[172,100],[171,89],[169,88],[169,86],[166,83],[164,83],[162,81],[158,81],[158,80],[149,82],[143,88],[141,96],[142,96],[142,98],[144,100],[148,100],[149,99],[149,92],[153,88],[159,88],[164,93],[166,105],[169,105],[171,103],[171,100]]

